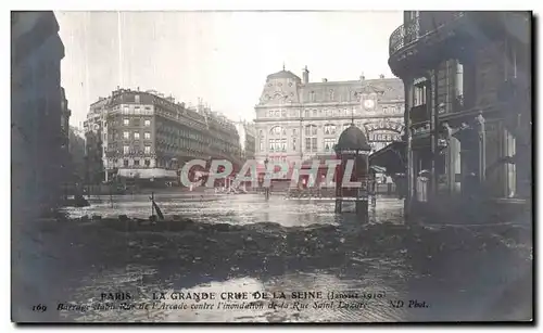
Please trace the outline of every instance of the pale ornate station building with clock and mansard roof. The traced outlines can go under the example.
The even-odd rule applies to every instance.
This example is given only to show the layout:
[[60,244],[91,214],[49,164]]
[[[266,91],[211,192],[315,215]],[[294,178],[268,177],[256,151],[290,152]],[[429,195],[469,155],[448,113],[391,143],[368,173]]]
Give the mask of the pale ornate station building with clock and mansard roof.
[[289,71],[268,75],[255,106],[256,159],[292,162],[333,154],[354,123],[372,150],[402,140],[404,88],[397,78],[311,82]]

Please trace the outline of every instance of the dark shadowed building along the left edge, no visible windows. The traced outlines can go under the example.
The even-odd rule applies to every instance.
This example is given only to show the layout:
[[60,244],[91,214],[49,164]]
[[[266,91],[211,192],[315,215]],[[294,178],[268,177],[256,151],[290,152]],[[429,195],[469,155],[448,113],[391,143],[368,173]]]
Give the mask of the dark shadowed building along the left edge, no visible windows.
[[[62,198],[64,46],[53,12],[11,13],[11,144],[14,218]],[[64,114],[65,116],[65,114]],[[24,215],[27,213],[26,215]]]

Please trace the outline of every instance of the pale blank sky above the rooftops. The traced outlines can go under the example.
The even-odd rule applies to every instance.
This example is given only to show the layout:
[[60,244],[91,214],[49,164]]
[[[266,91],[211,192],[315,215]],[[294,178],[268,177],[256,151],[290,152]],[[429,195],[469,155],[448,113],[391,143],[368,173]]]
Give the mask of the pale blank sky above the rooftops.
[[310,80],[383,74],[402,12],[55,12],[64,43],[62,86],[80,126],[117,86],[154,89],[232,120],[254,119],[266,76]]

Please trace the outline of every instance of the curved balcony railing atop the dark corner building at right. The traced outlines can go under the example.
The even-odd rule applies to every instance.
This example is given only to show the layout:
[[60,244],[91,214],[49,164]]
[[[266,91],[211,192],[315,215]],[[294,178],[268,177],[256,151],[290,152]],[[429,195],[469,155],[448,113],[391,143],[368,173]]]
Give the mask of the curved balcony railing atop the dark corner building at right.
[[[449,17],[443,16],[445,14],[450,14],[447,15]],[[458,17],[464,16],[464,14],[465,12],[443,12],[443,14],[437,16],[438,14],[421,12],[420,16],[417,16],[401,25],[390,35],[389,56],[392,56],[397,51],[417,41],[421,37],[435,33],[439,28],[451,24]],[[420,17],[425,18],[425,26],[422,28]],[[440,22],[437,22],[435,18]]]

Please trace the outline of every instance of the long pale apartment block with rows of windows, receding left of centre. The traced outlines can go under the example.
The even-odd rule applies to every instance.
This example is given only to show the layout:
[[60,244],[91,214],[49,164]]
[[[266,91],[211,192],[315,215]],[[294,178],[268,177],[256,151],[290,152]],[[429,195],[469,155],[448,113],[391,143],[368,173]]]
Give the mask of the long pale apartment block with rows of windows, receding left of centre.
[[[97,148],[96,169],[126,178],[177,178],[193,158],[240,165],[236,126],[199,103],[188,107],[153,90],[118,89],[93,103],[85,121],[87,149]],[[90,156],[89,156],[90,157]]]

